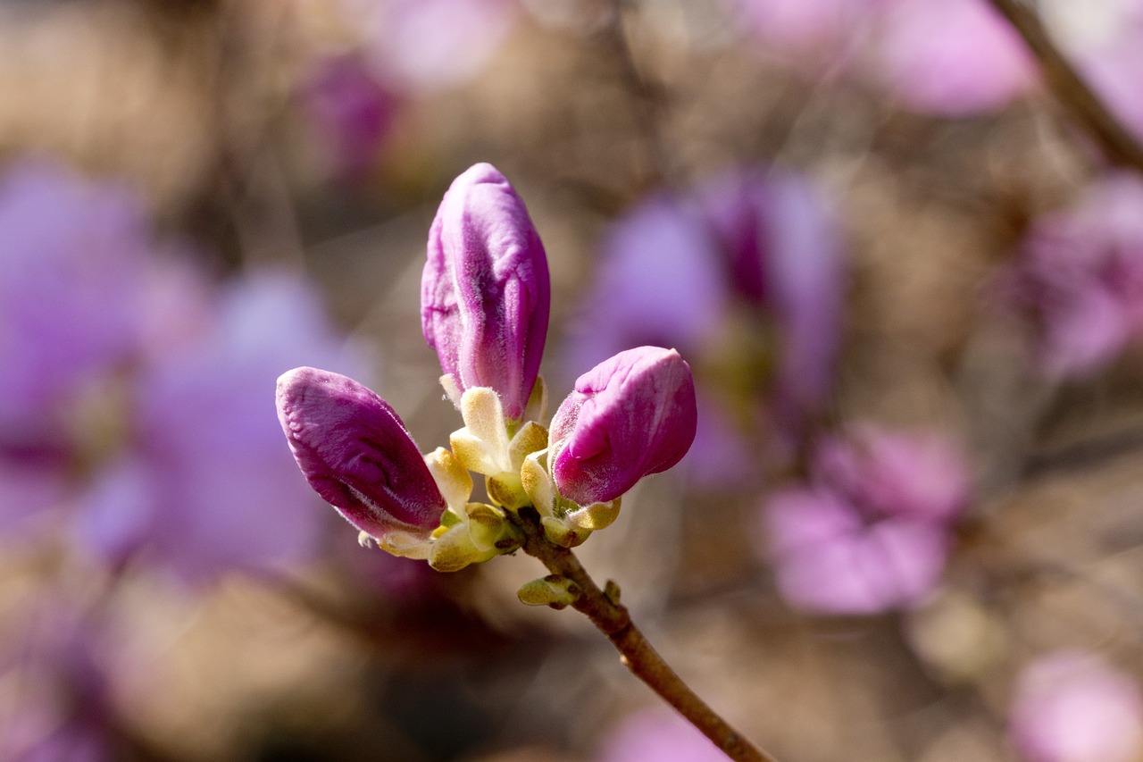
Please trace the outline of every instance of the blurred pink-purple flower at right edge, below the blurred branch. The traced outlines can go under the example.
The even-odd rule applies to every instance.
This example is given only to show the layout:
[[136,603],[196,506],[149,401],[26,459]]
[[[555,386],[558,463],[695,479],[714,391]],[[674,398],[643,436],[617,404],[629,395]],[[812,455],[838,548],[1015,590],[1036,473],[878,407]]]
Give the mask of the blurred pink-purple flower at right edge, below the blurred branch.
[[1109,174],[1029,231],[1002,292],[1032,315],[1046,372],[1096,370],[1143,332],[1141,208],[1143,182]]

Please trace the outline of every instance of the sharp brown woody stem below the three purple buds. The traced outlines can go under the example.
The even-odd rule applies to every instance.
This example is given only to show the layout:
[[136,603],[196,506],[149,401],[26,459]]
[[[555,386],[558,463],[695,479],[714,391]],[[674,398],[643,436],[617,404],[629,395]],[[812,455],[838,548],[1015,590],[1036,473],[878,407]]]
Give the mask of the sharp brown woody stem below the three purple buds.
[[560,574],[575,582],[580,595],[572,606],[586,614],[592,624],[607,635],[620,652],[623,664],[636,677],[673,706],[732,760],[777,762],[746,740],[682,682],[631,621],[626,606],[616,600],[617,594],[608,595],[599,589],[575,554],[547,541],[535,509],[521,508],[517,515],[518,524],[525,532],[523,551],[538,558],[553,574]]

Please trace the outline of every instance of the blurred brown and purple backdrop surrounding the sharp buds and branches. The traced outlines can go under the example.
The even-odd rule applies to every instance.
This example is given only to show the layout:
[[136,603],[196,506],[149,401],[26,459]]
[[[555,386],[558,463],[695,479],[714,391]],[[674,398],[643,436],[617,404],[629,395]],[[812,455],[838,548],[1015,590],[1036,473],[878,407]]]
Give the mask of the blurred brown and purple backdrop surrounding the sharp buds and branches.
[[[1040,0],[1143,140],[1143,2]],[[358,547],[272,404],[461,426],[419,326],[477,161],[553,404],[701,430],[580,555],[782,760],[1143,759],[1143,176],[984,0],[2,0],[0,757],[717,760],[535,559]]]

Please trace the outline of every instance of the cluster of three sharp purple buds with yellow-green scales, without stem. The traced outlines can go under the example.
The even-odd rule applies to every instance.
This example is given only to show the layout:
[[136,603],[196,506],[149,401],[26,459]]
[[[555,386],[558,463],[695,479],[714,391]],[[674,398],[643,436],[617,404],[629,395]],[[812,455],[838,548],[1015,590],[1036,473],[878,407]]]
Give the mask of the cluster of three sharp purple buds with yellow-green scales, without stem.
[[[425,341],[464,426],[422,455],[385,400],[311,367],[278,379],[278,415],[310,485],[362,543],[454,571],[520,547],[517,511],[546,538],[583,542],[639,479],[674,466],[695,436],[690,368],[673,349],[622,351],[580,376],[545,428],[539,360],[547,259],[523,201],[480,164],[445,195],[421,287]],[[472,501],[471,473],[489,501]]]

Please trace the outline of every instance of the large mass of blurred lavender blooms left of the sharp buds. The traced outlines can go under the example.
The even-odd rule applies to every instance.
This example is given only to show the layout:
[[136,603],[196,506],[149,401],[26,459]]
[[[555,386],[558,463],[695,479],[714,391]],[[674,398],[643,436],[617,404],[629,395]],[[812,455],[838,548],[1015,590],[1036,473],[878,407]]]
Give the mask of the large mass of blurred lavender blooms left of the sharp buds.
[[57,165],[0,188],[0,506],[19,514],[5,535],[71,526],[88,557],[192,581],[309,557],[320,513],[266,379],[303,357],[357,365],[309,286],[218,288],[152,240],[128,190]]

